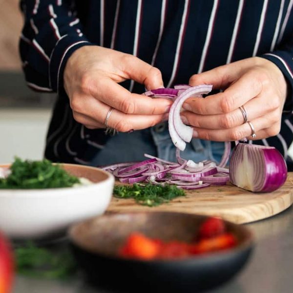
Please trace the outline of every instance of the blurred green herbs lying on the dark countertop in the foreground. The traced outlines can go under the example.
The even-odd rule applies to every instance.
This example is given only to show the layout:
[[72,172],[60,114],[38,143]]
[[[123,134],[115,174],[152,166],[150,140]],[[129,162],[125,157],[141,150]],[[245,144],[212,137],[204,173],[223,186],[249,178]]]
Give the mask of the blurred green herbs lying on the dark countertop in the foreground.
[[76,264],[68,250],[51,251],[32,242],[15,249],[17,272],[31,277],[64,279],[76,272]]

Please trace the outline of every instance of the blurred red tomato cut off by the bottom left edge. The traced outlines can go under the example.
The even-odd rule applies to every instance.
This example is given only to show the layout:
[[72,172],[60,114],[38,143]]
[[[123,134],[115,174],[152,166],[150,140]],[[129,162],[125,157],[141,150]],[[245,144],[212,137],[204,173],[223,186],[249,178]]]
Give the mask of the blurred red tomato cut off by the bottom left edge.
[[11,292],[13,269],[10,245],[4,235],[0,233],[0,293]]

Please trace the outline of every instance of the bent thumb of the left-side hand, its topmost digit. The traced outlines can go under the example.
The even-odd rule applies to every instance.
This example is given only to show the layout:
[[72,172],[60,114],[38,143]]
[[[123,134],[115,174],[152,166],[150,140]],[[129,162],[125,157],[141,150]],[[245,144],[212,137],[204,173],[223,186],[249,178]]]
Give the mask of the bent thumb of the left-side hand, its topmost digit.
[[133,55],[125,55],[120,66],[129,79],[145,84],[147,90],[164,87],[161,71]]

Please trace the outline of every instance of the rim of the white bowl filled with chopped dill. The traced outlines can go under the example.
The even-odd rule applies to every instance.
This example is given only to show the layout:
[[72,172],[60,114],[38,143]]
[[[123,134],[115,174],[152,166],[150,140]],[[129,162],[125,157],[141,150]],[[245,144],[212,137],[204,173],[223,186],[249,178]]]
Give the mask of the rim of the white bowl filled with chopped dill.
[[[91,189],[91,188],[96,188],[97,186],[100,186],[100,185],[104,185],[106,184],[107,182],[109,181],[115,181],[115,178],[114,176],[109,173],[108,171],[105,171],[99,167],[93,167],[93,166],[85,166],[85,165],[79,165],[79,164],[69,164],[69,163],[53,163],[53,165],[61,165],[61,166],[72,166],[72,167],[75,167],[75,166],[78,166],[78,167],[81,167],[81,168],[87,168],[87,169],[94,169],[94,170],[97,170],[103,174],[105,174],[107,176],[107,178],[99,181],[99,182],[93,182],[92,184],[90,185],[81,185],[81,186],[77,186],[75,188],[73,187],[61,187],[61,188],[32,188],[32,189],[26,189],[26,188],[15,188],[15,189],[10,189],[10,188],[0,188],[0,197],[10,197],[11,195],[13,196],[35,196],[36,193],[50,193],[51,195],[53,194],[58,194],[59,192],[58,191],[62,191],[64,193],[69,193],[71,192],[72,190],[81,190],[81,189]],[[0,167],[9,167],[11,166],[11,163],[9,164],[0,164]]]

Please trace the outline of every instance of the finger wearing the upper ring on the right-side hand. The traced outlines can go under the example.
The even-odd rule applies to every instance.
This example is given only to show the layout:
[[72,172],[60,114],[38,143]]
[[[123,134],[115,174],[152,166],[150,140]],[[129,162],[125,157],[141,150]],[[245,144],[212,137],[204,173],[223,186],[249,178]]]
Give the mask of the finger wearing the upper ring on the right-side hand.
[[[276,111],[277,99],[272,98],[270,100],[271,101],[268,102],[267,97],[261,95],[251,99],[243,105],[248,115],[247,119],[253,120],[266,113]],[[272,100],[276,100],[276,102],[272,102]],[[276,113],[278,113],[278,111],[276,111]],[[230,113],[217,115],[199,115],[190,111],[183,111],[181,113],[181,119],[187,125],[207,129],[228,129],[240,126],[245,122],[244,115],[240,108],[237,108]]]

